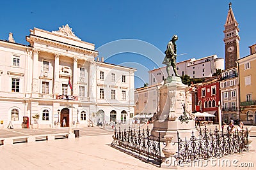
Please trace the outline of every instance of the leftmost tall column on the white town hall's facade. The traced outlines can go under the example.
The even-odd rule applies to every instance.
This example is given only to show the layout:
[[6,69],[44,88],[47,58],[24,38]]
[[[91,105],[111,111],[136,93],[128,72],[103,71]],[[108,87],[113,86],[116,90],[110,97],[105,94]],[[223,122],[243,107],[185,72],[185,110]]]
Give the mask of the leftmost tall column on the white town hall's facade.
[[38,49],[33,50],[33,79],[32,79],[32,92],[38,93],[39,88],[38,88],[38,78],[39,78],[39,71],[40,67],[38,64],[38,54],[39,54]]

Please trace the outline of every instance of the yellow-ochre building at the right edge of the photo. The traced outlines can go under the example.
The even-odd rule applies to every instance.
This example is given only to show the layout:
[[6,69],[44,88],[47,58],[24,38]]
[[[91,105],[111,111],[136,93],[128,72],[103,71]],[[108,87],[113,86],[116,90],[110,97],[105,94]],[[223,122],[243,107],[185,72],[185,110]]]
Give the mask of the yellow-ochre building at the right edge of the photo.
[[256,44],[249,48],[250,55],[237,60],[240,84],[240,119],[244,124],[256,124]]

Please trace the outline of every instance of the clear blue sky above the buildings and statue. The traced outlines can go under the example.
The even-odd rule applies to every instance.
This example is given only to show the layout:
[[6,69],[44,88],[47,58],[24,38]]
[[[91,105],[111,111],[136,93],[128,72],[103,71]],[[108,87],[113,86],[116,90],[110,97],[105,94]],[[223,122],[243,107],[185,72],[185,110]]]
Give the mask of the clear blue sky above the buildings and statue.
[[[177,61],[212,54],[223,58],[223,25],[229,2],[1,1],[0,39],[8,39],[13,32],[15,42],[28,45],[29,29],[56,31],[68,24],[83,41],[95,43],[99,57],[104,56],[106,62],[137,68],[135,87],[141,87],[148,82],[148,70],[164,66],[163,52],[173,34],[179,36],[177,53],[187,53]],[[231,2],[244,57],[250,52],[248,46],[256,43],[256,1]]]

